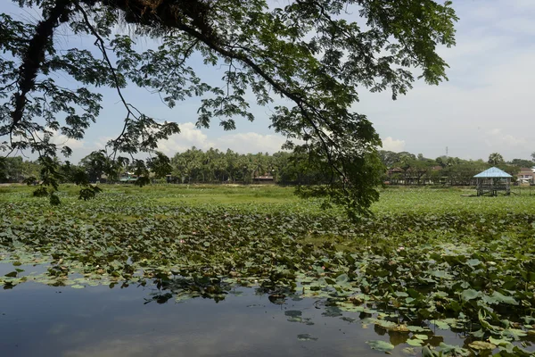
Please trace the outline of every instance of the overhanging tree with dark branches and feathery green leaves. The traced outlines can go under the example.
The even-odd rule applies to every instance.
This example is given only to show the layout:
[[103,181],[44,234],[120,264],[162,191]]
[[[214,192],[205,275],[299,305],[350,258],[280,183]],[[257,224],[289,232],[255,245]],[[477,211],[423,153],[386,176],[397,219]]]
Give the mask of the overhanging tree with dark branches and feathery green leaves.
[[[42,13],[38,21],[0,14],[0,139],[7,153],[37,152],[45,184],[55,185],[54,133],[73,139],[101,111],[98,87],[117,89],[124,126],[103,155],[119,157],[157,150],[158,141],[179,132],[177,123],[139,111],[121,89],[145,87],[173,107],[201,96],[197,125],[217,119],[235,129],[236,119],[254,120],[247,95],[272,110],[271,127],[288,138],[287,149],[309,157],[325,186],[301,191],[366,213],[377,199],[383,169],[381,141],[358,108],[358,88],[390,89],[395,99],[422,78],[446,79],[437,46],[454,45],[456,14],[450,1],[433,0],[16,0]],[[128,30],[124,29],[128,24]],[[57,33],[70,32],[98,50],[59,50]],[[136,38],[158,39],[139,51]],[[223,68],[210,83],[192,62]],[[420,72],[420,74],[415,74]],[[61,87],[57,73],[78,85]],[[62,153],[69,155],[67,146]],[[167,158],[157,155],[152,166]],[[169,159],[168,159],[169,160]],[[136,161],[139,170],[146,162]],[[53,190],[48,191],[51,202]]]

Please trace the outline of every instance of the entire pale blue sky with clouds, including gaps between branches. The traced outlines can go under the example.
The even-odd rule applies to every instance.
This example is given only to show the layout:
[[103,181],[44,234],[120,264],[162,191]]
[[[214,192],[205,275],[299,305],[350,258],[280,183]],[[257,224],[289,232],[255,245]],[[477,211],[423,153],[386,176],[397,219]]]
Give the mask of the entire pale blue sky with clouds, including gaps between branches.
[[[446,153],[464,159],[487,158],[498,152],[506,159],[529,158],[535,151],[533,89],[535,83],[535,1],[533,0],[454,0],[460,20],[457,22],[457,46],[440,48],[449,63],[449,82],[430,87],[416,82],[407,95],[391,100],[389,92],[360,93],[356,112],[366,114],[383,138],[383,147],[392,151],[422,153],[437,157]],[[26,19],[37,13],[21,10],[3,1],[1,12]],[[60,34],[63,49],[72,46],[91,48],[93,41]],[[147,48],[151,43],[138,42]],[[218,79],[216,69],[203,69],[202,77]],[[58,79],[65,80],[68,79]],[[74,82],[70,86],[75,86]],[[103,111],[97,123],[82,141],[69,145],[71,160],[78,160],[103,147],[107,138],[116,136],[124,118],[124,109],[114,90],[101,90]],[[230,148],[240,153],[279,150],[284,137],[268,129],[270,108],[251,104],[256,120],[237,119],[237,129],[223,131],[214,120],[210,129],[196,129],[199,98],[178,103],[173,109],[161,103],[158,95],[128,87],[123,91],[128,101],[149,115],[180,124],[182,133],[162,142],[169,155],[195,145],[220,150]],[[280,102],[279,102],[280,103]],[[63,137],[57,137],[63,142]]]

